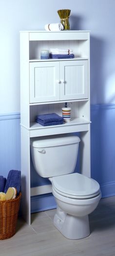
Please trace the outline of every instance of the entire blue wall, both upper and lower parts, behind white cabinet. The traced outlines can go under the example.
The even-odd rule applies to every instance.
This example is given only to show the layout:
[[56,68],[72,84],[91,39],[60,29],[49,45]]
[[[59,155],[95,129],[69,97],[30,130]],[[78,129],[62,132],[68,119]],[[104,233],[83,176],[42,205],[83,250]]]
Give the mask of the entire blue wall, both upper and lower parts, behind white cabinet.
[[[115,0],[0,0],[0,175],[20,170],[19,31],[44,30],[44,24],[59,22],[57,10],[65,8],[71,9],[71,29],[91,30],[91,171],[102,195],[110,196],[115,194]],[[35,186],[36,174],[31,175]]]

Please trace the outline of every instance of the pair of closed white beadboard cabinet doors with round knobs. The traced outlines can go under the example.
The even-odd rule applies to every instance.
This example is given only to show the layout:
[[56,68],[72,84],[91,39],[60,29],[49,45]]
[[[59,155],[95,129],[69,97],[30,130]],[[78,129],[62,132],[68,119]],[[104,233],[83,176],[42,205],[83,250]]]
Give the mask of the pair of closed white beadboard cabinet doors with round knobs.
[[88,98],[88,61],[30,63],[30,103]]

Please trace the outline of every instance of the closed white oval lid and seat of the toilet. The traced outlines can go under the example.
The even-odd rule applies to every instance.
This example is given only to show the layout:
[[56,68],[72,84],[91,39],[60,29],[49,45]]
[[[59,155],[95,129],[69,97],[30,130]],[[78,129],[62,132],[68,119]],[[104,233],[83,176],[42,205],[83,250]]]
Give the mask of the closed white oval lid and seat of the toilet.
[[100,192],[100,187],[96,180],[80,173],[53,177],[52,185],[56,192],[71,198],[91,198]]

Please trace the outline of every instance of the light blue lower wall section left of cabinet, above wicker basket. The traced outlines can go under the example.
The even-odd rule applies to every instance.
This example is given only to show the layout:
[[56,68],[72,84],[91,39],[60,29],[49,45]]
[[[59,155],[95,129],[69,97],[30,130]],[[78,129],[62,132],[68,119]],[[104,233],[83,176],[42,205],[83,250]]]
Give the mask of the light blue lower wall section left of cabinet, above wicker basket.
[[20,114],[0,115],[0,175],[20,170]]

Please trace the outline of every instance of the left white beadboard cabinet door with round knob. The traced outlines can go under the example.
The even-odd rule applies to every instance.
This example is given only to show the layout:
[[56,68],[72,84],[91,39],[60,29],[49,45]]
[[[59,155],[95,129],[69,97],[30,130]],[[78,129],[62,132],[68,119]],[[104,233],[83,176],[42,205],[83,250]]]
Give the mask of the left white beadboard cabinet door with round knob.
[[30,63],[30,103],[59,100],[59,63]]

